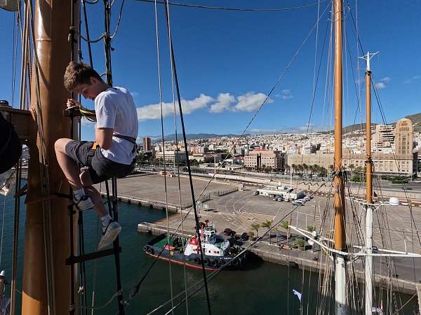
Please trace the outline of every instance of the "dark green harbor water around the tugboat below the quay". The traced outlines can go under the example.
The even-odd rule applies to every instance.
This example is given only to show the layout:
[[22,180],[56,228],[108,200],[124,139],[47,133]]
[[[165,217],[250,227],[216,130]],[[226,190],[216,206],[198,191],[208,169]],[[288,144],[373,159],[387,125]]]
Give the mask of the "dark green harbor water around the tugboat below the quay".
[[[4,209],[4,214],[0,214],[0,223],[4,223],[1,234],[0,268],[5,270],[6,277],[10,279],[13,250],[13,198],[0,196],[0,202]],[[164,216],[164,211],[119,203],[119,221],[123,227],[120,237],[121,276],[125,299],[154,261],[154,258],[147,257],[142,250],[147,241],[154,236],[138,233],[137,225],[142,221],[153,222]],[[83,219],[86,253],[89,253],[95,250],[98,243],[100,227],[93,211],[85,211]],[[22,291],[24,224],[25,207],[22,206],[18,255],[19,291]],[[192,228],[185,227],[190,230]],[[224,229],[224,227],[217,228],[220,231]],[[172,281],[170,282],[168,262],[157,261],[140,285],[137,295],[129,301],[126,314],[149,314],[171,299],[171,287],[173,295],[178,295],[185,289],[185,281],[187,286],[192,286],[196,281],[203,279],[201,270],[186,268],[184,272],[181,265],[171,265],[171,274]],[[86,293],[87,306],[91,307],[93,302],[95,309],[93,311],[81,310],[79,314],[116,314],[118,312],[116,298],[109,302],[116,291],[115,283],[116,271],[113,256],[87,262],[86,288],[83,290]],[[309,274],[300,269],[268,262],[262,262],[243,271],[222,271],[208,283],[213,314],[316,314],[317,286],[318,274],[316,272]],[[296,295],[293,295],[293,290],[302,293],[302,303]],[[6,295],[10,295],[10,286],[6,287]],[[19,293],[18,298],[17,314],[20,314]],[[402,304],[408,298],[408,295],[402,295]],[[175,300],[174,305],[179,301],[180,299]],[[103,307],[105,304],[107,305]],[[415,308],[416,298],[399,314],[414,314]],[[166,314],[169,309],[171,309],[171,302],[154,314]],[[204,290],[189,297],[187,303],[180,304],[173,314],[207,314]]]

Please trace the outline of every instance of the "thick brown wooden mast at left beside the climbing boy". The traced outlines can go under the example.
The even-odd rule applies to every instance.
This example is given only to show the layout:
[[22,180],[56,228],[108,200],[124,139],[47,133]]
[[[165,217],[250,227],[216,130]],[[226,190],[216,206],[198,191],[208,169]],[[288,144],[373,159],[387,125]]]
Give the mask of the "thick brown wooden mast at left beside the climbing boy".
[[[68,200],[53,198],[52,193],[60,190],[68,193],[67,180],[63,176],[55,158],[54,143],[60,137],[69,137],[70,121],[63,116],[65,102],[69,95],[63,85],[63,74],[69,63],[70,50],[67,40],[71,25],[71,6],[73,1],[35,1],[34,8],[34,45],[38,59],[39,99],[41,100],[41,119],[43,122],[46,167],[48,179],[41,181],[39,152],[40,139],[36,130],[36,69],[32,73],[31,107],[32,138],[29,139],[27,211],[25,222],[25,258],[23,262],[22,314],[45,315],[67,314],[70,302],[70,269],[65,265],[69,255],[69,214]],[[78,1],[75,1],[77,8]],[[30,6],[30,4],[29,4]],[[79,15],[77,15],[79,16]],[[79,23],[76,23],[79,25]],[[35,58],[36,60],[36,58]],[[48,183],[47,183],[48,182]],[[51,293],[53,301],[48,305],[47,268],[44,252],[44,221],[41,191],[46,184],[51,188],[47,202],[51,207],[51,239],[53,274],[55,283]],[[44,188],[41,189],[41,185]],[[53,303],[55,302],[55,303]]]

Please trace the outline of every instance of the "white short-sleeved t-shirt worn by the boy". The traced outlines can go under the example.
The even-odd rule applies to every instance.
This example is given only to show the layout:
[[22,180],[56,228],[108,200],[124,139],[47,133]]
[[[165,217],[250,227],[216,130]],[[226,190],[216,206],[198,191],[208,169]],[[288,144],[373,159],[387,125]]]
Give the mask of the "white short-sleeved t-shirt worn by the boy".
[[[112,128],[114,134],[138,137],[138,113],[130,92],[123,87],[109,87],[95,97],[95,115],[97,128]],[[109,150],[101,148],[105,158],[117,163],[131,164],[136,153],[133,144],[117,137],[112,137]]]

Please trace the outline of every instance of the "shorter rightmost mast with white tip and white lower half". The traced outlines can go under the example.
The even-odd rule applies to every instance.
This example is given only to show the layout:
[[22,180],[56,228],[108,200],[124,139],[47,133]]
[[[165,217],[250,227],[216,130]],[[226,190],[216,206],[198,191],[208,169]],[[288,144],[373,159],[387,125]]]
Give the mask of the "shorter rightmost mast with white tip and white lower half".
[[373,161],[371,160],[371,71],[370,58],[376,55],[367,52],[367,55],[361,57],[366,59],[366,315],[372,315],[373,307],[373,183],[371,169]]

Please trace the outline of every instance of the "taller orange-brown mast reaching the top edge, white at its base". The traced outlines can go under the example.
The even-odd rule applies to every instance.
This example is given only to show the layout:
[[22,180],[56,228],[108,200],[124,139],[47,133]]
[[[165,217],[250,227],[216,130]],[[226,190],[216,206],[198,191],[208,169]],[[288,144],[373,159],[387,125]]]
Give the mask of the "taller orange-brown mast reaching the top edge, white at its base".
[[[345,190],[342,174],[342,0],[334,0],[333,15],[335,22],[335,155],[333,160],[333,188],[335,190],[333,208],[335,209],[335,250],[346,251],[345,239]],[[335,254],[335,309],[336,315],[347,314],[345,256]]]

